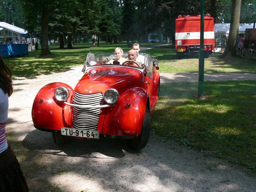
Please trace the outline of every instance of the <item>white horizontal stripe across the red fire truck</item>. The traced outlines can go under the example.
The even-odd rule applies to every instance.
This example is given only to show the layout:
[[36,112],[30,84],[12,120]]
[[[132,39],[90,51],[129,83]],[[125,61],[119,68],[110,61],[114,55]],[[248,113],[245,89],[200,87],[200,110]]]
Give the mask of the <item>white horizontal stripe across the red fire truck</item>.
[[[180,39],[200,39],[200,32],[175,33],[175,40]],[[204,39],[214,39],[214,31],[204,32]]]

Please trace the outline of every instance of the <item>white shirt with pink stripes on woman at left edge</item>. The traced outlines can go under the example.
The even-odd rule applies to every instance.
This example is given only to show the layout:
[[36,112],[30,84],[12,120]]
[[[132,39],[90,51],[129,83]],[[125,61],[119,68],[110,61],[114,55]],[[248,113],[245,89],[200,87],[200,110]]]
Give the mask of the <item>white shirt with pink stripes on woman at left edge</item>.
[[0,88],[0,153],[8,147],[5,138],[5,125],[8,116],[8,94]]

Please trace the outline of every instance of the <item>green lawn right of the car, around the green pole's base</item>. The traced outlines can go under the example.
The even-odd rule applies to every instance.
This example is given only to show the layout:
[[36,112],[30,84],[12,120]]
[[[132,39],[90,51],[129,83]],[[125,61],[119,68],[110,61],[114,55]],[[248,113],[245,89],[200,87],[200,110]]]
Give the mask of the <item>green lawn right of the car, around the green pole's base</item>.
[[162,84],[153,130],[256,172],[256,81]]

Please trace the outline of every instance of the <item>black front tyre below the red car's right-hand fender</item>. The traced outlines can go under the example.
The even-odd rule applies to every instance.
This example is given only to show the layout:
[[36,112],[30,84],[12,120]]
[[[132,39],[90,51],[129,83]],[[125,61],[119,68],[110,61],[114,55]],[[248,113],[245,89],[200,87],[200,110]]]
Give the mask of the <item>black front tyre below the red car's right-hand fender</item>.
[[149,116],[148,108],[146,108],[140,135],[135,139],[127,139],[126,145],[128,148],[132,150],[143,149],[148,144],[149,136],[150,136],[150,116]]

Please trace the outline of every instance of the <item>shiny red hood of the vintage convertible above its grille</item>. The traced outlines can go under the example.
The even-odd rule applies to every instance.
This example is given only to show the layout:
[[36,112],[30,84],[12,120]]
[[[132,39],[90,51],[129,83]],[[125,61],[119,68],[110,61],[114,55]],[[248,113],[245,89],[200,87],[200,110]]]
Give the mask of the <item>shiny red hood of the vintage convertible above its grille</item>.
[[92,68],[80,79],[75,91],[80,92],[86,88],[90,92],[104,92],[104,89],[119,89],[138,81],[142,81],[142,73],[137,69],[124,67]]

